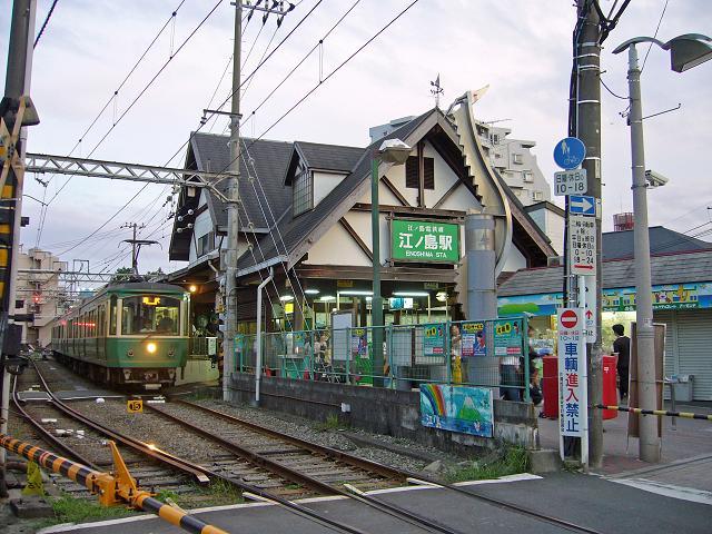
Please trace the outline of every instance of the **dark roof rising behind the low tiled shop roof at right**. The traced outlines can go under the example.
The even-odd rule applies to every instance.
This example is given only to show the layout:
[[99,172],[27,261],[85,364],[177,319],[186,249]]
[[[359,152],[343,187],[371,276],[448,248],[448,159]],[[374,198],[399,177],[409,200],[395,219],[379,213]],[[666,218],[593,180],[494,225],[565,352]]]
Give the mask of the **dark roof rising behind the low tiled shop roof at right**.
[[[663,226],[649,228],[650,254],[670,254],[712,249],[712,243],[685,236]],[[633,257],[633,230],[606,231],[603,238],[603,260]]]

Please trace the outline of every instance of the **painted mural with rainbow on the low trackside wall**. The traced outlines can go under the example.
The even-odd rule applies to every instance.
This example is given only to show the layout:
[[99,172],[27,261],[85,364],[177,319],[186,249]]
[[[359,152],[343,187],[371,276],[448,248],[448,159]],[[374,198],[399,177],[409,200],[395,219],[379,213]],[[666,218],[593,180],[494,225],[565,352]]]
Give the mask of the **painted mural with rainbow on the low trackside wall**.
[[421,384],[423,426],[493,437],[493,421],[488,387]]

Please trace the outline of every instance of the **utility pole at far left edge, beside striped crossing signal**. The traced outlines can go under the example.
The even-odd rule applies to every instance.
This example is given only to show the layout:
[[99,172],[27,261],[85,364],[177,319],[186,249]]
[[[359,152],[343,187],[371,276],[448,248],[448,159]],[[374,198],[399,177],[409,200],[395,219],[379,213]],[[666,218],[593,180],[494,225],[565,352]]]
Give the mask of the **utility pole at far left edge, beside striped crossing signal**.
[[[4,86],[4,98],[2,99],[2,108],[4,110],[4,123],[12,132],[19,129],[24,120],[26,103],[20,102],[23,96],[30,92],[30,79],[32,71],[32,41],[34,38],[34,13],[37,9],[36,0],[14,0],[12,4],[12,21],[10,26],[10,44],[8,50],[8,70]],[[19,125],[17,123],[19,121]],[[37,120],[39,121],[39,119]],[[33,121],[34,123],[37,121]],[[10,322],[14,323],[9,316],[14,308],[16,300],[16,280],[18,270],[18,255],[20,245],[20,226],[21,226],[21,208],[22,208],[22,178],[23,161],[26,152],[27,134],[23,128],[20,137],[14,145],[14,152],[19,154],[19,165],[10,165],[7,174],[7,181],[3,186],[10,186],[12,189],[9,198],[14,198],[14,206],[10,204],[0,210],[1,222],[6,228],[10,228],[9,233],[0,236],[0,249],[9,261],[1,270],[2,293],[0,299],[0,349],[2,350],[2,359],[0,362],[0,370],[2,372],[2,392],[0,406],[0,433],[8,432],[9,415],[9,394],[10,394],[10,374],[6,368],[8,354],[6,354],[6,338],[10,330]],[[8,154],[8,159],[11,159]],[[2,188],[4,189],[4,187]],[[6,195],[2,195],[4,198]],[[6,226],[7,225],[7,226]],[[9,249],[9,250],[8,250]],[[2,290],[4,289],[4,291]],[[7,497],[6,484],[6,452],[0,449],[0,497]]]

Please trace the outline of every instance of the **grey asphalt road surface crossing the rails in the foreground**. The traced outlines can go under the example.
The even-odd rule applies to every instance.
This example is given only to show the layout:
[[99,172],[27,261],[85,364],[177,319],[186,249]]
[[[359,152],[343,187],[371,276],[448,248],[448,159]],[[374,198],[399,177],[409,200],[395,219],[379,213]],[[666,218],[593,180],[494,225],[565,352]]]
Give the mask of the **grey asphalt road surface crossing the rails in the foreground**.
[[[712,506],[655,495],[600,476],[556,473],[544,477],[514,475],[498,481],[463,483],[468,493],[495,497],[544,514],[551,514],[596,532],[631,534],[636,532],[709,533]],[[498,532],[563,533],[570,532],[545,521],[488,504],[445,488],[411,486],[370,492],[377,498],[397,504],[438,521],[462,533]],[[368,533],[422,533],[415,525],[345,497],[301,501],[343,524]],[[334,532],[314,521],[281,507],[265,504],[240,504],[206,508],[196,513],[201,520],[230,533],[320,534]],[[138,516],[85,525],[58,525],[40,531],[50,533],[120,534],[125,532],[175,533],[177,527],[154,516]]]

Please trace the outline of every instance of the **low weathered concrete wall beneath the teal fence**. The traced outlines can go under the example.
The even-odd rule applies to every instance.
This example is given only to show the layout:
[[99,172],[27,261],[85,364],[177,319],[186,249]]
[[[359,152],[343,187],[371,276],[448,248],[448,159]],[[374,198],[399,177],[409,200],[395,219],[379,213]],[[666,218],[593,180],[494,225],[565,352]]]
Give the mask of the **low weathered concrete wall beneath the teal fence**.
[[[254,392],[254,375],[233,375],[233,403],[249,402]],[[491,439],[422,426],[418,392],[275,377],[263,377],[260,392],[260,404],[269,409],[314,421],[326,421],[327,416],[337,415],[339,421],[356,428],[407,437],[455,454],[473,455],[496,448],[501,442],[538,448],[536,414],[534,407],[526,403],[495,399],[496,439]],[[350,406],[349,413],[342,412],[342,403]]]

